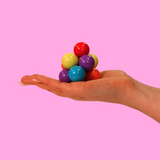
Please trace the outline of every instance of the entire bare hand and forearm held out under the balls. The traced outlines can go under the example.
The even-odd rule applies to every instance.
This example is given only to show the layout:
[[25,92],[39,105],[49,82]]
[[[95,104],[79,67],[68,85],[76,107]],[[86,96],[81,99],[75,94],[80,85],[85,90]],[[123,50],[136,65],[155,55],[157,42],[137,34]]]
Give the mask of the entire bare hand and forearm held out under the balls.
[[118,103],[137,109],[160,123],[160,88],[145,85],[121,70],[101,72],[101,78],[65,83],[43,75],[26,75],[21,85],[36,85],[78,101]]

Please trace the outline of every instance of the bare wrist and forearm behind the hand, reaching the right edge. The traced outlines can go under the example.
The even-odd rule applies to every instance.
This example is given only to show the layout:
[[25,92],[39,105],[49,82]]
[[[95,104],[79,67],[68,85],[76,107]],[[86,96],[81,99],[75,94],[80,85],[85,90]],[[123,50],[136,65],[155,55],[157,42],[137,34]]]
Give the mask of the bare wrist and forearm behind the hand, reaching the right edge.
[[126,100],[127,106],[137,109],[160,123],[160,89],[134,80],[134,88]]

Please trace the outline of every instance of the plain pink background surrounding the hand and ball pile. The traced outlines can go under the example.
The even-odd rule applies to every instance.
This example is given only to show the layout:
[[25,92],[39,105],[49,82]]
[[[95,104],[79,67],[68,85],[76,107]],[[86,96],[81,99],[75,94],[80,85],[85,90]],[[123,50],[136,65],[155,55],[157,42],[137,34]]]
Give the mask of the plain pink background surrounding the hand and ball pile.
[[160,88],[159,0],[1,0],[0,160],[160,159],[159,123],[143,113],[17,83],[58,79],[62,56],[80,41],[100,71]]

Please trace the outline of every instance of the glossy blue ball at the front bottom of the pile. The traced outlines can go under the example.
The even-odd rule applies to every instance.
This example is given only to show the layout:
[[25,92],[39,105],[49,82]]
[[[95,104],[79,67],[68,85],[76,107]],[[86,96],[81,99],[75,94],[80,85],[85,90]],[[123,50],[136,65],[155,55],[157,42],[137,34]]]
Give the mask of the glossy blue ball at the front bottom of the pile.
[[69,72],[68,72],[69,78],[72,82],[76,82],[76,81],[83,81],[85,76],[86,76],[86,72],[85,70],[80,67],[80,66],[73,66]]

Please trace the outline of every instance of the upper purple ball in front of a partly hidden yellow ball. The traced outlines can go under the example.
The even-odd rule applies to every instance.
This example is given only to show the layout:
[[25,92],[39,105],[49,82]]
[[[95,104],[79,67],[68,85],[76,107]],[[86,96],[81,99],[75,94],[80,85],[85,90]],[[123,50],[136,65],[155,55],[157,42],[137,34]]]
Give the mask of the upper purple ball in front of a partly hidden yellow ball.
[[94,58],[90,55],[83,55],[79,59],[79,66],[83,67],[87,72],[93,69],[94,64],[95,64]]

